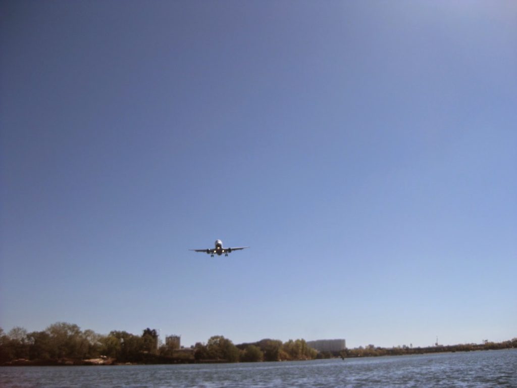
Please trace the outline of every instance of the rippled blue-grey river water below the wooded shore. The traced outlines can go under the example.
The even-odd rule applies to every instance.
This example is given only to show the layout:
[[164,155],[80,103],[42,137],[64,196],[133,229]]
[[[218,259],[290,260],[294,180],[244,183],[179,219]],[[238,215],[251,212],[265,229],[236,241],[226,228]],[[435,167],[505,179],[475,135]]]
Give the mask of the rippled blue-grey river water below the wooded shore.
[[0,368],[2,388],[517,387],[517,349],[281,363]]

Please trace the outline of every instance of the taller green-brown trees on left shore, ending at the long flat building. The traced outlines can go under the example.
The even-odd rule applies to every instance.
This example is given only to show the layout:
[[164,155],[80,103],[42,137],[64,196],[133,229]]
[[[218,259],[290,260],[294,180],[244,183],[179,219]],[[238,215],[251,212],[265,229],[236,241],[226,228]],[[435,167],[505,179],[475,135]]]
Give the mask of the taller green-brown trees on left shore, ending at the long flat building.
[[156,330],[141,335],[112,331],[108,335],[82,331],[76,324],[57,322],[41,332],[14,327],[9,333],[0,328],[0,365],[84,364],[88,360],[103,363],[168,364],[181,362],[259,362],[311,360],[317,351],[303,339],[263,339],[253,344],[234,345],[224,336],[212,336],[206,344],[197,342],[191,349],[178,350],[171,344],[159,344]]

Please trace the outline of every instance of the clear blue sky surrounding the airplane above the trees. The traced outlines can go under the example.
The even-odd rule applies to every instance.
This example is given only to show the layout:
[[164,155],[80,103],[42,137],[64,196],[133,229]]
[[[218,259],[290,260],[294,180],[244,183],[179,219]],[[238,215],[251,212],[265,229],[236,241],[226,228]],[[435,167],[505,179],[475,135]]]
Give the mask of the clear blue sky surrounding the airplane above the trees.
[[4,1],[0,44],[5,331],[517,336],[515,2]]

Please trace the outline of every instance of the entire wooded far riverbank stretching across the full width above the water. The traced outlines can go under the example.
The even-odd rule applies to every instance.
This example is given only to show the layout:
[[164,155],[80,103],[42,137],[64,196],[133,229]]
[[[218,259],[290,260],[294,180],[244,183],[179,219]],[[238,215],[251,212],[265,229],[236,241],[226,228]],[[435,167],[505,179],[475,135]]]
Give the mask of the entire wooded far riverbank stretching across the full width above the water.
[[0,365],[6,366],[251,363],[510,348],[517,348],[517,337],[503,342],[484,340],[483,344],[424,348],[413,347],[411,344],[392,348],[368,345],[335,352],[318,352],[304,339],[283,342],[265,338],[234,345],[229,338],[217,335],[210,337],[206,343],[197,342],[195,346],[182,348],[179,340],[160,344],[156,330],[149,328],[143,330],[142,335],[120,331],[101,335],[91,330],[81,331],[79,326],[66,322],[58,322],[42,332],[32,333],[15,327],[4,334],[0,328]]

